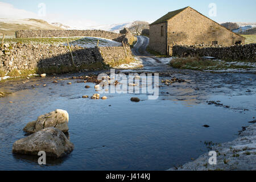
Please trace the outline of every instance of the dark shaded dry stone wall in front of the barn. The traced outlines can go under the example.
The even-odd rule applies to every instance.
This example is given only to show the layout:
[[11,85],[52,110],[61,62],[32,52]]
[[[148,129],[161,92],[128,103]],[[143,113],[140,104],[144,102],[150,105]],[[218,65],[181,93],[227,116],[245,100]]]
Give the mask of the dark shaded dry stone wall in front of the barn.
[[173,56],[212,56],[217,59],[255,60],[256,44],[242,46],[174,46]]

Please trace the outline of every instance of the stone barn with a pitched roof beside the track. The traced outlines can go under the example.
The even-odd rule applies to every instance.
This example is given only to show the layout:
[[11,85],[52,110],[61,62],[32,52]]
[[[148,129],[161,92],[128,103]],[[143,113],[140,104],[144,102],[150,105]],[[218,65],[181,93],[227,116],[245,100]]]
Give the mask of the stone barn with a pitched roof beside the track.
[[150,24],[148,47],[172,55],[172,46],[195,44],[232,46],[245,38],[207,18],[191,7],[171,11]]

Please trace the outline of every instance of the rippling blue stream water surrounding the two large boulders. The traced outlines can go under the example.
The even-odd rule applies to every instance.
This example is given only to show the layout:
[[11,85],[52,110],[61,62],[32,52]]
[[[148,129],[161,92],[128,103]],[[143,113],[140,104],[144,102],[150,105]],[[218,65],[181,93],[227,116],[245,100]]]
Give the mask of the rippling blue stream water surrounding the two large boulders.
[[[94,84],[86,84],[90,89],[76,80],[53,84],[53,77],[0,83],[1,90],[12,92],[0,98],[0,170],[166,170],[204,154],[205,142],[235,139],[256,115],[255,75],[175,72],[160,80],[174,76],[186,82],[162,85],[158,100],[147,100],[146,94],[84,99],[95,93]],[[134,96],[142,101],[131,102]],[[26,123],[55,109],[69,113],[75,150],[63,159],[47,159],[46,166],[39,166],[38,156],[12,154]]]

